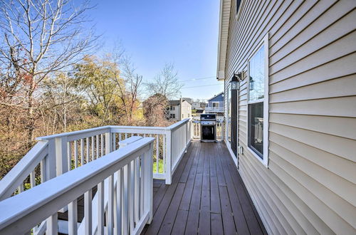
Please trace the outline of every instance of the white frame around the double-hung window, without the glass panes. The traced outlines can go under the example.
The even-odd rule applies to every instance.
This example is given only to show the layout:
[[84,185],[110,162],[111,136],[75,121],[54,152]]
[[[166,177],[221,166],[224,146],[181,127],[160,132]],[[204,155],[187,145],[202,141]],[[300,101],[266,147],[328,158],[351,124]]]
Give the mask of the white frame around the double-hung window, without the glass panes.
[[[264,79],[264,98],[263,99],[259,99],[259,100],[253,100],[253,101],[249,101],[249,96],[250,96],[250,92],[249,92],[249,87],[250,87],[250,61],[251,58],[256,54],[256,52],[261,48],[261,46],[264,46],[264,69],[265,69],[265,79]],[[249,104],[253,104],[253,103],[260,103],[263,102],[263,159],[261,159],[260,156],[258,156],[256,154],[255,151],[253,151],[251,149],[251,147],[248,147],[248,128],[250,123],[248,122],[248,120],[250,120],[249,118],[249,113],[247,112],[247,131],[246,131],[246,146],[247,146],[247,150],[249,152],[251,152],[251,154],[253,156],[256,157],[256,159],[260,162],[263,163],[263,165],[265,165],[266,167],[268,167],[268,126],[269,126],[269,122],[268,122],[268,115],[269,115],[269,104],[268,104],[268,94],[269,94],[269,83],[268,83],[268,33],[266,34],[266,36],[263,37],[263,40],[261,41],[261,43],[258,44],[258,46],[256,47],[256,49],[253,51],[253,53],[251,54],[251,56],[248,58],[248,66],[247,66],[247,109],[248,109],[248,105]]]

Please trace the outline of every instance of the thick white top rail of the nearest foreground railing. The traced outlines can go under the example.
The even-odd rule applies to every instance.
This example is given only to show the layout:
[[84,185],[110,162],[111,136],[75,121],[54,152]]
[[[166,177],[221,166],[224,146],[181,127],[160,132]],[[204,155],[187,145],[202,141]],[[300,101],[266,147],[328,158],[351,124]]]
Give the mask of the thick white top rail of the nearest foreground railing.
[[[18,225],[26,223],[26,225],[17,226],[19,233],[26,232],[28,227],[35,226],[38,221],[48,218],[53,212],[65,207],[66,204],[102,182],[110,174],[114,174],[117,169],[150,150],[149,145],[154,140],[153,137],[143,138],[127,147],[110,152],[98,160],[88,162],[82,167],[1,201],[0,230],[6,230],[14,223]],[[53,187],[54,185],[56,187]],[[31,218],[28,218],[29,214]],[[20,231],[21,229],[23,231]]]

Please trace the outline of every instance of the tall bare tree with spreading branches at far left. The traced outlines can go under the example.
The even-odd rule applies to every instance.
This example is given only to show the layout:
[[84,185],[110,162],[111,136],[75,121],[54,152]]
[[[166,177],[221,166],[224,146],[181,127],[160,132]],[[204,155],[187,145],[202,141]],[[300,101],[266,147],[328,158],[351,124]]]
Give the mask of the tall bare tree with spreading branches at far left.
[[41,83],[80,61],[94,46],[97,37],[82,28],[88,9],[88,1],[75,6],[73,0],[0,0],[0,63],[14,68],[12,83],[22,80],[28,145],[37,118],[34,96]]

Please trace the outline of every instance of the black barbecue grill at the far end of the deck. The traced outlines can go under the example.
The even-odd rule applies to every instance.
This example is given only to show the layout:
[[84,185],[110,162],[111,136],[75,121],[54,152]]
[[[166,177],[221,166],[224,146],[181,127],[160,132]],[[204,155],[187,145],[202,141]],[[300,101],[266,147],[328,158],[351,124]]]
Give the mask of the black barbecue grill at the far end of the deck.
[[216,114],[200,115],[200,141],[216,142]]

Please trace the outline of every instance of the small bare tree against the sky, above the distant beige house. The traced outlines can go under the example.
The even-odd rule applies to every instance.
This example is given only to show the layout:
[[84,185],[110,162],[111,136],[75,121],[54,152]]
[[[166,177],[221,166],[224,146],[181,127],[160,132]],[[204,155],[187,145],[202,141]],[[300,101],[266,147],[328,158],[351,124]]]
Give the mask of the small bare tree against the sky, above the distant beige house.
[[183,84],[179,83],[178,73],[174,69],[174,65],[166,63],[162,71],[155,76],[152,82],[146,83],[146,86],[149,95],[161,94],[168,99],[172,99],[179,97]]

